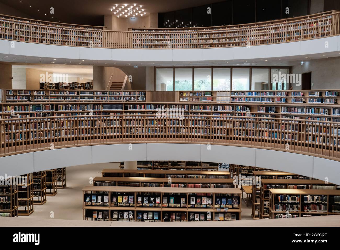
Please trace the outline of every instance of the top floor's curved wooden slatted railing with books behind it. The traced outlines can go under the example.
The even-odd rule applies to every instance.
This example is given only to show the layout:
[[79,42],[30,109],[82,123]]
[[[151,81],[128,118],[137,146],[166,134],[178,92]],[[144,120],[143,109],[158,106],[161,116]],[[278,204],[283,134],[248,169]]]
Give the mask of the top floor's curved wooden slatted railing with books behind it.
[[0,15],[0,39],[90,48],[223,48],[334,36],[340,34],[339,20],[340,12],[330,11],[239,26],[108,31],[98,27],[28,22]]

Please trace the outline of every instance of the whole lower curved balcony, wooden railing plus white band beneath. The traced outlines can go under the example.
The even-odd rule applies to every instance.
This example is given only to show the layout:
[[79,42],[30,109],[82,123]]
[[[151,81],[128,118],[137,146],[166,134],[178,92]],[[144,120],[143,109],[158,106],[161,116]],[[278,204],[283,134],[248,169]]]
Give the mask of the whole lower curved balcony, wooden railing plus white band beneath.
[[259,166],[340,184],[339,122],[87,115],[2,119],[0,124],[2,171],[16,175],[55,164],[168,159]]

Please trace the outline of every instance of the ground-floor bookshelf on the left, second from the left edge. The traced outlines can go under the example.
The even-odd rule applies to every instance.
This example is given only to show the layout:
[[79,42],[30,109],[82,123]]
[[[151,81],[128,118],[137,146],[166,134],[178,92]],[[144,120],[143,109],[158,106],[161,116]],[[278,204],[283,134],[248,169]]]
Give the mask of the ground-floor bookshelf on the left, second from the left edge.
[[18,178],[18,215],[28,216],[34,212],[33,173]]

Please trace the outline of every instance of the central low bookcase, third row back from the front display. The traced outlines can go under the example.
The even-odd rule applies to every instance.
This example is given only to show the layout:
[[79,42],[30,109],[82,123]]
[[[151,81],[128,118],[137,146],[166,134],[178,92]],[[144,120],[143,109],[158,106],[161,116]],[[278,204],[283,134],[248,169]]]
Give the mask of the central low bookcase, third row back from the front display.
[[103,177],[156,177],[156,178],[222,178],[229,179],[229,171],[197,171],[197,170],[131,170],[103,169]]

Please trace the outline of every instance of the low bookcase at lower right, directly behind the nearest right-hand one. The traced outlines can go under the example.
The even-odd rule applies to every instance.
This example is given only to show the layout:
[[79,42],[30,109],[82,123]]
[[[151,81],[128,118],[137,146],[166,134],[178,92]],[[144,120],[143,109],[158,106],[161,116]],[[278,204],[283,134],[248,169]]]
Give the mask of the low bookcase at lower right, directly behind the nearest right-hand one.
[[339,185],[321,180],[262,179],[260,188],[260,219],[269,218],[269,189],[321,189],[338,190]]

